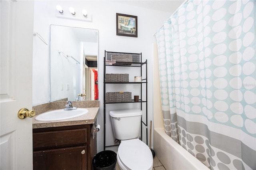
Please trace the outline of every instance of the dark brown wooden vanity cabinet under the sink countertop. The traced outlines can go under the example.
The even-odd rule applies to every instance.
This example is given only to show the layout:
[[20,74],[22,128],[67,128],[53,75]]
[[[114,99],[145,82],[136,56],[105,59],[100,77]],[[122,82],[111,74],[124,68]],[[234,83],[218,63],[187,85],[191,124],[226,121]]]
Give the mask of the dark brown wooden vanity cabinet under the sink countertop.
[[92,126],[33,129],[33,169],[91,170],[97,147]]

